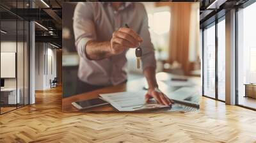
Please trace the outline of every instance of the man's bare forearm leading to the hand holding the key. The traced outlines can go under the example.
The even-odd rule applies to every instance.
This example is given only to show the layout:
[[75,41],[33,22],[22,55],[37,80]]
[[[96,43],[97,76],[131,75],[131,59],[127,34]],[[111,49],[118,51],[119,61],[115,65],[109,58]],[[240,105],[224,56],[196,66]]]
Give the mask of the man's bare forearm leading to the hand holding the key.
[[112,56],[109,41],[88,41],[85,48],[88,59],[100,60]]

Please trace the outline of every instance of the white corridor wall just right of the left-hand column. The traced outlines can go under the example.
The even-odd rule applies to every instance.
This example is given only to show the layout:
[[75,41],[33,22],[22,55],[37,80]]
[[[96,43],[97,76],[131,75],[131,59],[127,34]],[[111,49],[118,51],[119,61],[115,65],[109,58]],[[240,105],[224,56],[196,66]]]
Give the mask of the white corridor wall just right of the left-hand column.
[[48,43],[36,43],[36,90],[51,88],[50,80],[53,80],[54,77],[56,77],[56,67],[56,49],[53,49]]

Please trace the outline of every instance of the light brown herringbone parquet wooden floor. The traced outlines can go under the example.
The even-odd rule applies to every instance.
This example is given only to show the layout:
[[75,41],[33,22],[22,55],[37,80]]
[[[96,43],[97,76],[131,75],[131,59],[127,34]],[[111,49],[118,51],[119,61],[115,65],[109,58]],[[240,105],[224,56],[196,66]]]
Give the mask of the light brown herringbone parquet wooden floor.
[[61,112],[61,88],[0,116],[0,142],[256,142],[256,112],[202,98],[189,113]]

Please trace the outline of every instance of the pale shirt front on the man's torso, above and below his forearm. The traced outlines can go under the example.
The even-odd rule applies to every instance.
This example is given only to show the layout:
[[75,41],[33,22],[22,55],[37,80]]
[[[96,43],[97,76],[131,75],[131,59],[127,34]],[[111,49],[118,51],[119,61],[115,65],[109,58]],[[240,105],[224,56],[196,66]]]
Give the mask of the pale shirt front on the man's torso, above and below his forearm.
[[[144,19],[140,13],[140,3],[131,3],[115,11],[110,3],[92,4],[93,22],[97,33],[97,41],[110,41],[114,31],[128,24],[136,33],[140,33],[141,23]],[[125,57],[127,50],[122,54],[111,56],[99,61],[84,61],[79,63],[79,79],[95,85],[115,85],[127,79]],[[86,70],[84,70],[86,69]],[[84,74],[86,72],[86,74]],[[83,77],[83,76],[86,76]],[[84,80],[86,79],[86,80]]]

